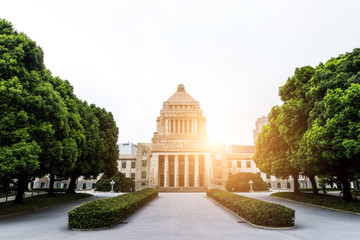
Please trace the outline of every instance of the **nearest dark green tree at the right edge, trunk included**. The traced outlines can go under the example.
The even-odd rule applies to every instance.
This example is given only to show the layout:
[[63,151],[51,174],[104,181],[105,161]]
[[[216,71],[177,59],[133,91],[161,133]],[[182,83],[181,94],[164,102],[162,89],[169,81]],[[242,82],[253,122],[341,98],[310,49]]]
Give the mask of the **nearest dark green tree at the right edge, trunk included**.
[[360,84],[328,90],[324,100],[324,124],[315,120],[304,136],[307,161],[319,173],[335,175],[342,182],[344,199],[351,200],[349,180],[360,171]]

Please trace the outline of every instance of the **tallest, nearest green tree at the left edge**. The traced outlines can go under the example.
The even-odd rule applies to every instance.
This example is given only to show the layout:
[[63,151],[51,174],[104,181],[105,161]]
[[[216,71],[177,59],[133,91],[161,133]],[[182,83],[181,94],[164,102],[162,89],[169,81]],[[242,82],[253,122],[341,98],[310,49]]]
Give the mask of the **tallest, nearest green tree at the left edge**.
[[47,81],[41,48],[5,20],[0,53],[1,175],[17,179],[16,202],[22,202],[29,176],[70,145],[66,107]]

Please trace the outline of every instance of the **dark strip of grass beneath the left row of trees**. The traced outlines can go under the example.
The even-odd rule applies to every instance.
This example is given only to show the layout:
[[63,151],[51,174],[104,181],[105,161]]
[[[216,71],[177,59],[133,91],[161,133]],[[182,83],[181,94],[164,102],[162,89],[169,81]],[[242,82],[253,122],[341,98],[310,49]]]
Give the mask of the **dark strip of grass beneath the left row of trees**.
[[58,194],[55,197],[48,197],[42,195],[39,197],[26,198],[23,204],[14,204],[12,202],[0,204],[0,217],[8,214],[16,214],[20,212],[33,211],[36,209],[47,208],[51,206],[60,205],[82,198],[92,196],[87,193],[75,193],[75,194]]

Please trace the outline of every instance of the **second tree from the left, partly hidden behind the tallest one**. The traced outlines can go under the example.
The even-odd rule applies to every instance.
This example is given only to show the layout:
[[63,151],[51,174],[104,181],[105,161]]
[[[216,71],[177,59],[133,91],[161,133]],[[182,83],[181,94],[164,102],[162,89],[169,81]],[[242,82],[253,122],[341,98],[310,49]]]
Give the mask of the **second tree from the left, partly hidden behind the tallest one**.
[[[48,80],[47,78],[51,76],[45,75],[44,78]],[[48,85],[49,89],[42,88],[37,92],[48,107],[45,111],[37,112],[36,115],[49,127],[49,131],[34,129],[33,138],[42,150],[39,155],[41,165],[37,174],[39,176],[50,174],[49,195],[53,196],[56,176],[65,176],[76,162],[77,144],[70,136],[70,113],[66,104],[59,92],[53,90],[50,83]]]

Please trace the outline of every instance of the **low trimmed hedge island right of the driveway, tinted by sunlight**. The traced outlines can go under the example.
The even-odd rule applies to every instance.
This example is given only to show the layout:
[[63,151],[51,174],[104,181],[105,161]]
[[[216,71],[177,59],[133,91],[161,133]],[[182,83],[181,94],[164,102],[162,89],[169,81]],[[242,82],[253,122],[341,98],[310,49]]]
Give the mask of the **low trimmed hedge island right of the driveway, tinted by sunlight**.
[[281,204],[248,198],[218,189],[207,190],[206,194],[253,224],[265,227],[293,227],[295,225],[295,210]]

